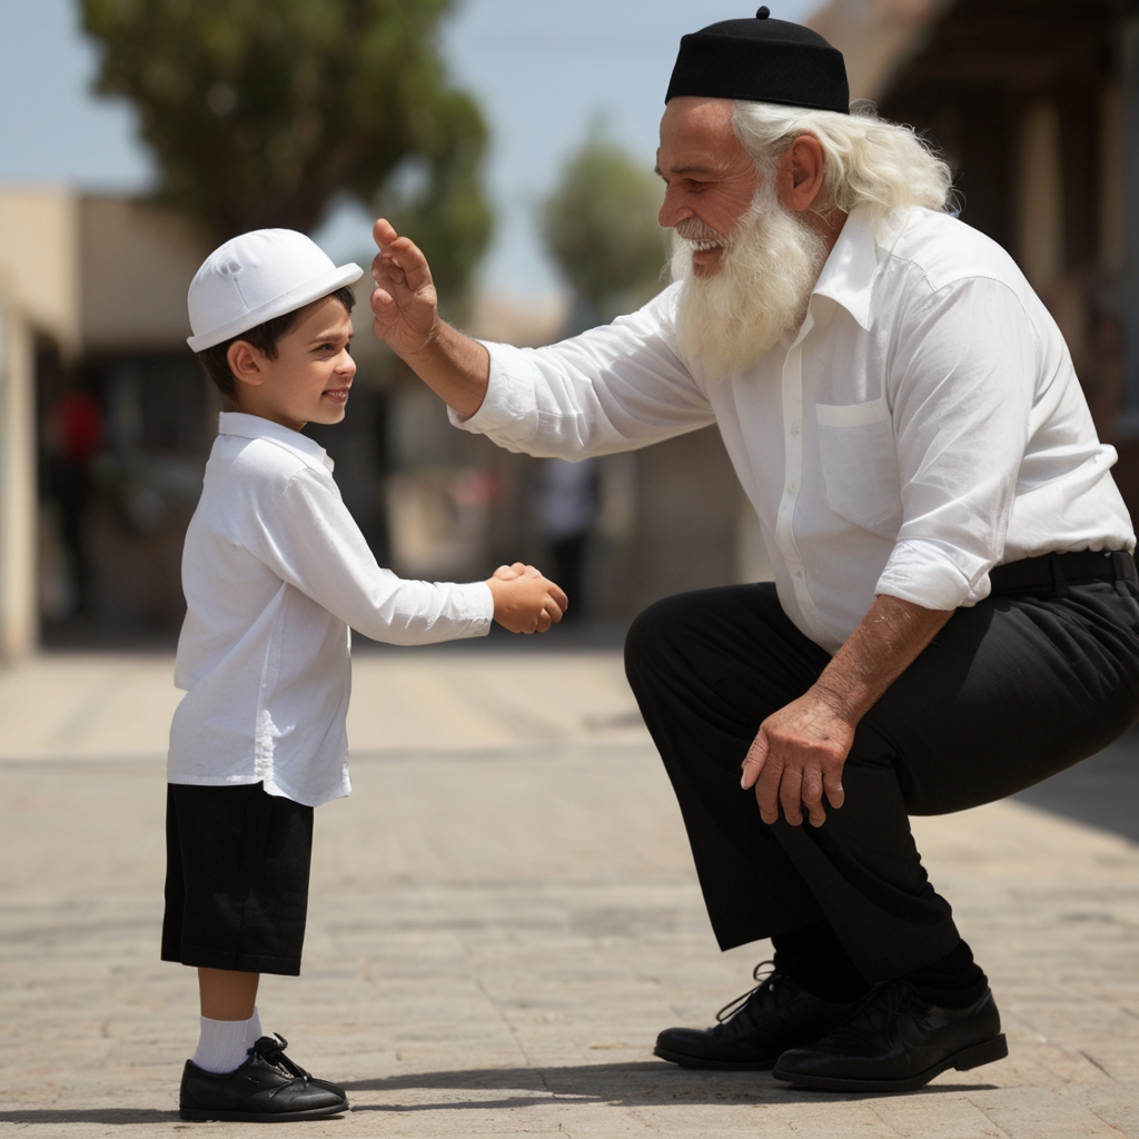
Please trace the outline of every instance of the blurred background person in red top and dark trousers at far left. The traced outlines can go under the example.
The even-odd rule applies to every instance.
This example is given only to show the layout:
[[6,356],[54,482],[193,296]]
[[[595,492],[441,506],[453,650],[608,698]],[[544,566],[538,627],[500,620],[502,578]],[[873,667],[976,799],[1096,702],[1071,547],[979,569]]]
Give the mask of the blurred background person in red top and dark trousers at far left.
[[59,511],[59,540],[67,565],[67,616],[90,613],[90,559],[87,516],[91,502],[91,462],[103,442],[103,415],[82,388],[65,391],[44,420],[48,494]]

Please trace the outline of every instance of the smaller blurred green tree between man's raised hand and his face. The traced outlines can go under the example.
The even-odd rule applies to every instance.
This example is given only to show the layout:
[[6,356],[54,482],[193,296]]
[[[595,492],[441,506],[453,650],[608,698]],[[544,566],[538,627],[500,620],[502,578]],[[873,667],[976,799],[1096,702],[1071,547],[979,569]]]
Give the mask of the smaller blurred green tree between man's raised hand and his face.
[[546,247],[601,320],[644,304],[662,285],[661,185],[615,142],[593,133],[571,156],[542,211]]

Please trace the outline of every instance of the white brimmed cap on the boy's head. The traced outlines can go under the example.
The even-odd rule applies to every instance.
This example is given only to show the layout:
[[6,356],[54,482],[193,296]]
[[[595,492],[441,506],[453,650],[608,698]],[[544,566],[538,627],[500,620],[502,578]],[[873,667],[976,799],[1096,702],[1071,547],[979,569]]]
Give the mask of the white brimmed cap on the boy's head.
[[363,276],[357,264],[333,264],[311,238],[292,229],[256,229],[219,246],[190,281],[186,303],[194,352],[303,309]]

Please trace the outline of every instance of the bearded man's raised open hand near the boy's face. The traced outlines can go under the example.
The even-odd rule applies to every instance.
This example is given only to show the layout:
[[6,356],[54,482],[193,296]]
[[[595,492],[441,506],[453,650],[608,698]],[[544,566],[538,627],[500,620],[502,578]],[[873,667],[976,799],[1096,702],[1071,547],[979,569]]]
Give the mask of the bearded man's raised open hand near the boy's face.
[[427,347],[439,327],[439,297],[427,259],[383,218],[371,232],[379,246],[371,263],[372,327],[396,355],[415,355]]

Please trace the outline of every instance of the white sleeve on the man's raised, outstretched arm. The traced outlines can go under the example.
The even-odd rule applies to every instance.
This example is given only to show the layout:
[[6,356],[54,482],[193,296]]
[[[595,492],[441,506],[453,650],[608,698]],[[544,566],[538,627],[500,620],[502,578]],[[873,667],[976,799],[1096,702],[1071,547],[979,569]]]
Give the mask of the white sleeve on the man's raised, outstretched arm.
[[583,459],[647,446],[714,421],[672,347],[672,286],[644,309],[544,349],[486,344],[490,384],[464,431],[509,451]]

